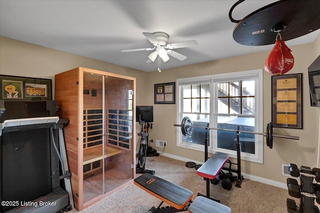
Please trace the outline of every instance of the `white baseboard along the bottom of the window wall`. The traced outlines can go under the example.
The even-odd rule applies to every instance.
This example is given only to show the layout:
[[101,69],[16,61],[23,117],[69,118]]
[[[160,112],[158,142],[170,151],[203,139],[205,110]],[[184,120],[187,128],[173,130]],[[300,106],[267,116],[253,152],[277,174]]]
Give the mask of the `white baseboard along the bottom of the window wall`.
[[[203,162],[204,162],[204,161],[203,162],[194,161],[192,159],[183,158],[183,157],[180,157],[180,156],[171,155],[171,154],[167,154],[167,153],[163,153],[163,154],[160,154],[160,155],[162,155],[164,157],[172,158],[172,159],[175,159],[175,160],[183,161],[183,162],[194,162],[195,164],[203,164]],[[287,186],[286,186],[286,183],[281,183],[281,182],[277,182],[277,181],[273,181],[273,180],[269,180],[269,179],[266,179],[266,178],[261,178],[261,177],[258,177],[258,176],[245,174],[245,173],[241,173],[241,175],[243,176],[244,179],[260,182],[260,183],[267,184],[267,185],[274,186],[274,187],[278,187],[278,188],[281,188],[281,189],[288,189]]]

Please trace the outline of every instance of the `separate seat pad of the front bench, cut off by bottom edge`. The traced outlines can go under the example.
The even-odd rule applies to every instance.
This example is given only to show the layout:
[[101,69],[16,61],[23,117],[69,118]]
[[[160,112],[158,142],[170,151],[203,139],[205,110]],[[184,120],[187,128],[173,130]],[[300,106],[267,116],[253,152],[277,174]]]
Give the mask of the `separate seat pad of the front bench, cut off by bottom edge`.
[[198,196],[190,205],[188,213],[231,213],[231,209],[208,198]]

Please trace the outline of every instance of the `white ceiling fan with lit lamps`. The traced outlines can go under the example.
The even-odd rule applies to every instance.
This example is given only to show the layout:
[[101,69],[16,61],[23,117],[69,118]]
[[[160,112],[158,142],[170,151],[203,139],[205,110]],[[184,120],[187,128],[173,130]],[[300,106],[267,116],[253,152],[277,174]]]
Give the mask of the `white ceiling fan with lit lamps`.
[[168,41],[169,35],[165,32],[142,32],[142,34],[151,42],[154,46],[153,48],[140,48],[140,49],[124,49],[121,52],[133,52],[133,51],[150,51],[154,50],[148,55],[148,60],[146,63],[153,62],[157,56],[159,56],[163,62],[166,62],[170,59],[169,56],[172,56],[180,61],[183,61],[187,57],[178,52],[173,51],[173,49],[196,46],[198,43],[195,40],[182,41],[177,43],[166,44]]

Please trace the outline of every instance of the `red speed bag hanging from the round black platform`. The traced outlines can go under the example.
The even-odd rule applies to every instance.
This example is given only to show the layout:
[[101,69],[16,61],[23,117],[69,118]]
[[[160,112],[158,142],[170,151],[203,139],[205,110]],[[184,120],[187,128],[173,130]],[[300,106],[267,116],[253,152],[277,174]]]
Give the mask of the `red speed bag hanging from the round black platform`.
[[292,69],[294,58],[291,49],[280,39],[276,39],[275,45],[264,62],[264,69],[271,75],[283,75]]

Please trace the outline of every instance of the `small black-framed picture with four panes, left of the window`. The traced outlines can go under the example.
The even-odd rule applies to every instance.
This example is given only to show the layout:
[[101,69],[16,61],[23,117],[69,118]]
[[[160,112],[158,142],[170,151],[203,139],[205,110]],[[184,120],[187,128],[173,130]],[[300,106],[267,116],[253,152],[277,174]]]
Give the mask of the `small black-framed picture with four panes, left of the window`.
[[154,84],[155,104],[175,104],[175,82]]

